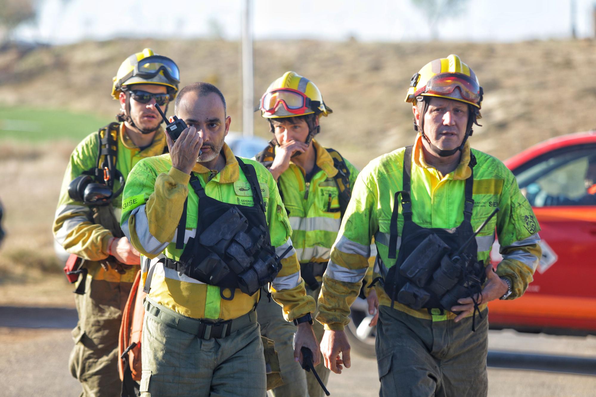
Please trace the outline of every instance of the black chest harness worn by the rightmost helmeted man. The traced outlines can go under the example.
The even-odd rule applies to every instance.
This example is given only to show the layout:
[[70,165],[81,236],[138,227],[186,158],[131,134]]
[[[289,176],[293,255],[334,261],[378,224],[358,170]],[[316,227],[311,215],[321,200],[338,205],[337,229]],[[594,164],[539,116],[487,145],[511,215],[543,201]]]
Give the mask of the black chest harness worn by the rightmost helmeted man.
[[[472,155],[471,175],[465,180],[464,220],[455,229],[423,228],[412,221],[411,159],[412,146],[408,146],[403,157],[403,190],[395,193],[391,216],[390,259],[396,258],[399,196],[403,216],[402,242],[395,265],[388,271],[382,264],[379,266],[385,273],[383,287],[391,298],[392,308],[397,300],[412,309],[426,308],[430,312],[430,309],[438,308],[443,313],[444,310],[451,311],[458,299],[480,293],[486,277],[485,266],[477,259],[476,233],[471,225],[476,159]],[[476,311],[478,305],[474,302],[474,315]]]

